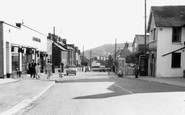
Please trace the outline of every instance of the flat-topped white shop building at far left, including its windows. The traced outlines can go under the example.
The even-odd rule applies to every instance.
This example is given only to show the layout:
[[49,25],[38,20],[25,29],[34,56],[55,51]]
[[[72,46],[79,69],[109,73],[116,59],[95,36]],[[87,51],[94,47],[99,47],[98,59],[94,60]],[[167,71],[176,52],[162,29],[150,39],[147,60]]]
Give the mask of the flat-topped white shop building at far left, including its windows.
[[0,21],[0,42],[0,77],[26,72],[32,59],[41,63],[46,60],[47,35],[23,24]]

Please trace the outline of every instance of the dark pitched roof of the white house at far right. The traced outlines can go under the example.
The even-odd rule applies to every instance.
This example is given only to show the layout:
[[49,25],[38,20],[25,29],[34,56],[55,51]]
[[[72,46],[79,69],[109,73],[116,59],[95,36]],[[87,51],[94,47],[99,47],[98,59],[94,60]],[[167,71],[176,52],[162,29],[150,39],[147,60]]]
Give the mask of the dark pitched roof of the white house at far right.
[[151,15],[154,16],[157,27],[174,27],[185,25],[185,6],[152,6]]

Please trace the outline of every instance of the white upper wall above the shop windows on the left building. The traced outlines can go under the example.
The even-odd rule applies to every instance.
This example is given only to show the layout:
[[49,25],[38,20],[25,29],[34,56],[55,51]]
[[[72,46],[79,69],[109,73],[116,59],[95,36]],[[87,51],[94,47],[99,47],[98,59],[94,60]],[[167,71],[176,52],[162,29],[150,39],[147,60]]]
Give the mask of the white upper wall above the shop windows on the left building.
[[[33,37],[41,39],[41,42],[33,41]],[[4,40],[10,43],[37,48],[47,52],[47,37],[25,27],[13,28],[4,24]]]

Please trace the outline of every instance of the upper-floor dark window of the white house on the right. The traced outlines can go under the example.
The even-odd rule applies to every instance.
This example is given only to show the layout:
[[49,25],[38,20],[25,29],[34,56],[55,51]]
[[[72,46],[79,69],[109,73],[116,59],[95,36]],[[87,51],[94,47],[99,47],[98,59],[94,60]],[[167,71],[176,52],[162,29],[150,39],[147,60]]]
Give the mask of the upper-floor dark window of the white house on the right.
[[181,42],[181,27],[173,27],[172,42]]

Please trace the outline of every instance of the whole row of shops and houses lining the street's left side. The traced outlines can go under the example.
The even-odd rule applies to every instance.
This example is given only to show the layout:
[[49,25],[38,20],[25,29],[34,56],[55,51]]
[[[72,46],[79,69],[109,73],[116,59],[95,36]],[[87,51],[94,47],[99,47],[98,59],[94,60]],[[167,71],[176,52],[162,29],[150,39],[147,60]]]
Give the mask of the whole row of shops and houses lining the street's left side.
[[17,26],[0,21],[0,78],[27,73],[28,64],[34,60],[45,72],[48,60],[55,68],[66,65],[81,65],[80,50],[67,44],[55,34],[44,35],[24,24]]

